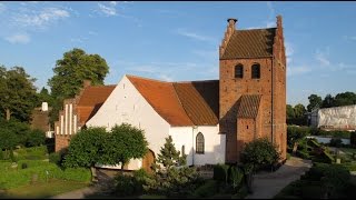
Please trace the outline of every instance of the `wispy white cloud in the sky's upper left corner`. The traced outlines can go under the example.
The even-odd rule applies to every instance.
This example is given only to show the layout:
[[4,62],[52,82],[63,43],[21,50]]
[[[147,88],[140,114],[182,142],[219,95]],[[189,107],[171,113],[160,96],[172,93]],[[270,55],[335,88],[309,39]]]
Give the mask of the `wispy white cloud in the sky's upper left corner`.
[[20,13],[16,17],[14,21],[23,27],[44,28],[57,20],[70,17],[67,10],[59,8],[44,8],[38,13],[33,14],[33,12],[36,11],[32,11],[31,14]]

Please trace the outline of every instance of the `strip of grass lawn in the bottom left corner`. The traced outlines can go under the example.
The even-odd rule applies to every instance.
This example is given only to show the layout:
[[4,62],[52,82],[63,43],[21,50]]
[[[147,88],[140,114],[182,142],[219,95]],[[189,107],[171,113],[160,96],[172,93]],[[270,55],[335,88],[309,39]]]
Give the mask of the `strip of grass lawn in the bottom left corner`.
[[48,182],[33,183],[29,186],[9,189],[1,194],[2,199],[43,199],[66,193],[89,186],[86,182],[49,180]]

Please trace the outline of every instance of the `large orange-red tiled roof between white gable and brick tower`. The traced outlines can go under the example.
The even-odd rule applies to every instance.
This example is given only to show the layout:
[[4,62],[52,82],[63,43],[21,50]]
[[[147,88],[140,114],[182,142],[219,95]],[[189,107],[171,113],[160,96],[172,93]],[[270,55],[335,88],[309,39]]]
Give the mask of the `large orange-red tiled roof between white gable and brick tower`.
[[[136,76],[127,78],[170,126],[218,123],[218,100],[211,101],[218,99],[218,81],[165,82]],[[211,99],[207,100],[208,97]]]

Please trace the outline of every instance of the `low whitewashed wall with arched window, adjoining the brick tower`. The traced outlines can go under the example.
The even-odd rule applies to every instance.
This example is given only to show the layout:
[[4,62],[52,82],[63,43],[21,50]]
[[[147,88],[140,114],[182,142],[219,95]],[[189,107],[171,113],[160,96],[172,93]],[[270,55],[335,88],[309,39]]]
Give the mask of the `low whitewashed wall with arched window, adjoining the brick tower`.
[[[205,153],[196,153],[196,137],[201,132],[205,139]],[[171,127],[169,134],[171,136],[175,147],[181,151],[185,146],[188,166],[204,166],[225,163],[225,134],[219,134],[219,126],[204,127]]]

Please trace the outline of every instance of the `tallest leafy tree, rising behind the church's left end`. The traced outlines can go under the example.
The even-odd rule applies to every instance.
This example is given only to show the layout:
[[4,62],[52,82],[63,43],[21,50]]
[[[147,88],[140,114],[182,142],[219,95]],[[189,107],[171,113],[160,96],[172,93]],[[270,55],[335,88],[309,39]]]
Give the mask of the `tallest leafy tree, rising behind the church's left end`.
[[63,99],[75,97],[85,80],[92,84],[103,84],[109,67],[99,54],[87,54],[83,50],[75,48],[63,53],[53,68],[55,76],[48,80],[53,102],[50,111],[50,123],[58,120],[58,112]]

